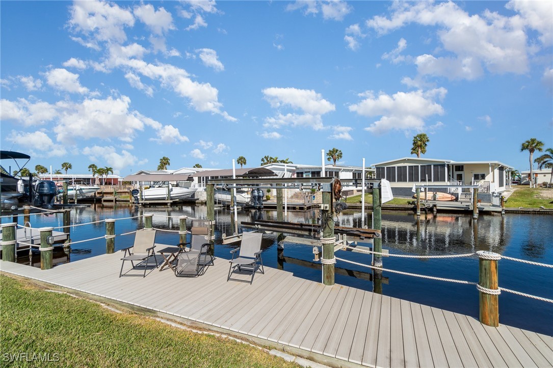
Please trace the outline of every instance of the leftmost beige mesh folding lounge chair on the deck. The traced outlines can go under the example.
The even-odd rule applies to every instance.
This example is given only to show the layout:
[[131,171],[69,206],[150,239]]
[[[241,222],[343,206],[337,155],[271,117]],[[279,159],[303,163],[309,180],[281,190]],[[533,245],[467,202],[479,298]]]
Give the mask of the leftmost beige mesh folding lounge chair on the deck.
[[[140,276],[140,275],[127,275],[128,271],[123,274],[123,266],[125,261],[131,261],[133,270],[139,267],[143,267],[144,276],[146,277],[146,270],[149,266],[153,264],[149,261],[155,262],[155,267],[158,267],[158,260],[155,257],[154,253],[155,248],[155,230],[138,230],[134,235],[134,245],[129,246],[128,248],[122,249],[121,251],[125,252],[124,257],[121,259],[123,262],[121,264],[121,271],[119,272],[119,277],[125,276]],[[134,264],[134,262],[138,262]]]

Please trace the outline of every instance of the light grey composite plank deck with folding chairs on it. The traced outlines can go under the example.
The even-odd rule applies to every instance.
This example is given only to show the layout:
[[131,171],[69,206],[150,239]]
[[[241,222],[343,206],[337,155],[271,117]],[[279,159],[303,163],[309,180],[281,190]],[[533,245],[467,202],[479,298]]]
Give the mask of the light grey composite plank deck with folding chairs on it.
[[153,270],[145,278],[119,277],[121,255],[44,271],[0,261],[0,270],[289,346],[326,364],[553,367],[553,337],[546,335],[488,327],[462,314],[352,287],[324,286],[269,267],[252,285],[227,282],[224,259],[216,259],[196,278],[175,277],[170,269]]

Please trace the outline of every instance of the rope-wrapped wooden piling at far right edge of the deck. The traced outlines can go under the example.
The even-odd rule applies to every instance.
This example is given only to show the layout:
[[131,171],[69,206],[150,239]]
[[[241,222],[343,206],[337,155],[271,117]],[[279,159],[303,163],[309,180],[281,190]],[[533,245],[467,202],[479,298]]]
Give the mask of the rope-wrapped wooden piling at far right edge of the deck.
[[497,261],[501,256],[490,251],[478,251],[478,291],[480,322],[492,327],[499,326],[499,280]]

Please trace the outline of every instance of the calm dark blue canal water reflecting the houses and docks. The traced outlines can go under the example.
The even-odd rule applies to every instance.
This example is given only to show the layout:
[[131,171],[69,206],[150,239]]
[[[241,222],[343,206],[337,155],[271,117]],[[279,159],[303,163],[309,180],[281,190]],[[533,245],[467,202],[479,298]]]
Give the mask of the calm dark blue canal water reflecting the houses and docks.
[[[144,211],[144,212],[143,212]],[[181,215],[206,218],[205,206],[175,206],[172,208],[139,209],[135,206],[97,204],[92,207],[77,207],[71,212],[73,224],[95,222],[106,218],[125,218],[143,213],[153,213],[154,228],[178,230]],[[276,219],[276,211],[239,211],[238,221],[254,218]],[[317,211],[289,212],[291,222],[312,223]],[[2,219],[7,222],[8,219]],[[9,219],[11,221],[11,219]],[[337,217],[337,224],[360,227],[361,212],[346,210]],[[23,218],[20,218],[20,223]],[[367,222],[371,223],[370,214]],[[34,228],[61,226],[61,214],[34,215]],[[190,220],[187,226],[190,227]],[[125,219],[116,222],[116,234],[142,228],[141,219]],[[229,250],[236,244],[223,245],[221,235],[231,234],[231,211],[216,209],[215,254],[229,259]],[[491,250],[505,256],[523,260],[553,264],[553,217],[550,215],[507,214],[480,215],[473,223],[471,215],[437,214],[424,217],[420,222],[412,213],[383,212],[383,248],[395,254],[444,255],[466,254],[477,250]],[[73,241],[96,238],[105,234],[105,223],[84,225],[71,229]],[[297,277],[321,281],[320,264],[315,264],[312,247],[284,242],[284,251],[278,251],[277,234],[263,236],[263,264],[267,267],[293,272]],[[132,245],[133,235],[117,236],[116,250]],[[177,233],[158,232],[156,243],[177,244]],[[367,244],[361,244],[367,245]],[[54,262],[57,264],[77,261],[106,252],[105,240],[93,240],[75,244],[70,252],[56,248]],[[362,253],[338,251],[337,257],[369,263],[371,256]],[[40,267],[40,255],[30,259],[19,255],[18,261]],[[384,268],[457,280],[478,282],[478,259],[462,257],[453,259],[404,259],[384,257]],[[373,290],[372,271],[367,267],[338,261],[336,267],[358,271],[356,276],[336,274],[336,283]],[[350,271],[344,271],[351,274]],[[473,285],[426,280],[384,272],[382,292],[384,295],[406,299],[448,311],[478,318],[478,292]],[[223,282],[224,280],[222,280]],[[553,269],[533,266],[510,260],[499,261],[499,285],[511,290],[553,299]],[[503,292],[499,297],[499,320],[523,329],[553,335],[553,304]]]

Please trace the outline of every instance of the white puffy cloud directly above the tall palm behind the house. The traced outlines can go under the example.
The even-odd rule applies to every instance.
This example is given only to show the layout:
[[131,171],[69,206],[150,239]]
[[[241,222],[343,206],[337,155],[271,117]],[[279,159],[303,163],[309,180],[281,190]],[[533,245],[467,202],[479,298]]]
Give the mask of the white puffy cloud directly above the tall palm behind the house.
[[381,118],[365,128],[372,133],[382,134],[389,130],[422,130],[425,119],[444,114],[444,108],[436,102],[447,93],[443,87],[429,91],[397,92],[392,96],[380,93],[375,96],[368,91],[359,94],[363,101],[349,106],[349,111],[364,117]]

